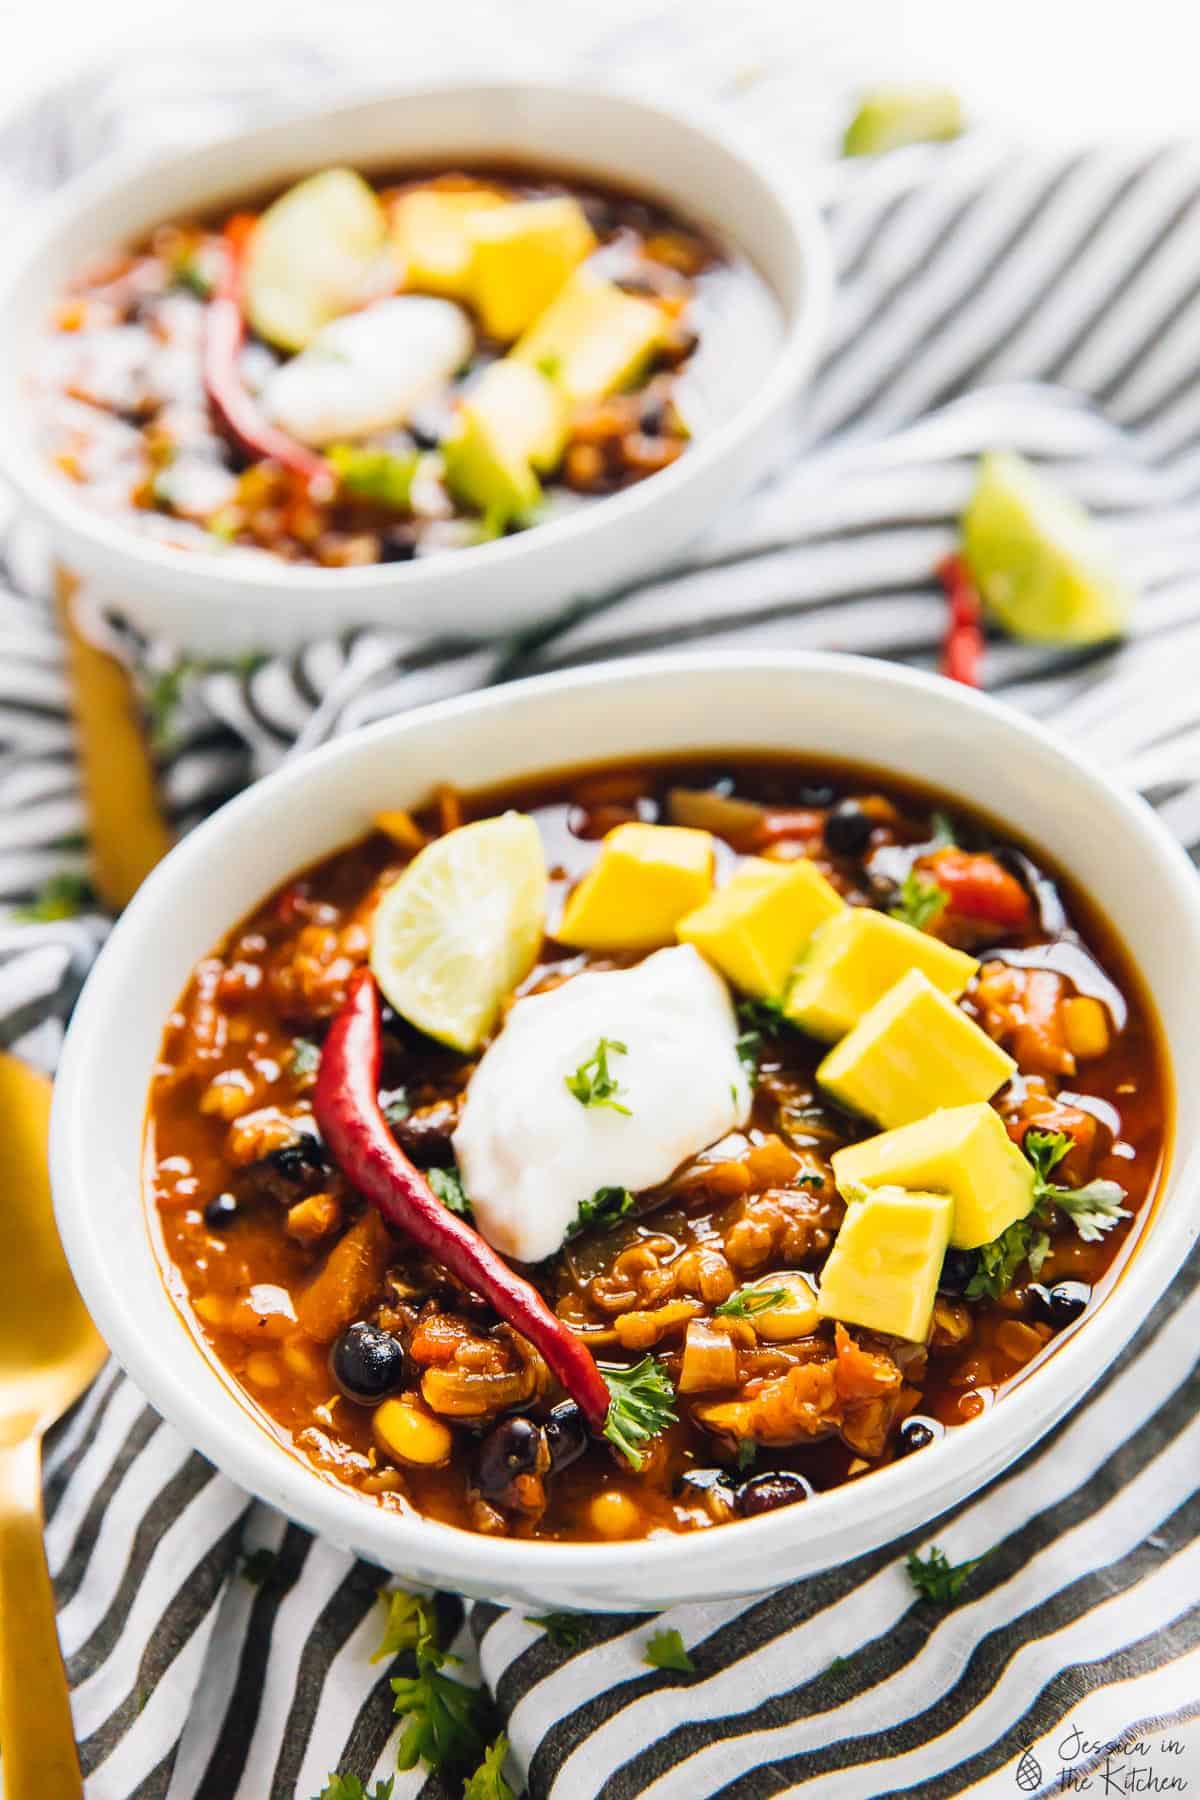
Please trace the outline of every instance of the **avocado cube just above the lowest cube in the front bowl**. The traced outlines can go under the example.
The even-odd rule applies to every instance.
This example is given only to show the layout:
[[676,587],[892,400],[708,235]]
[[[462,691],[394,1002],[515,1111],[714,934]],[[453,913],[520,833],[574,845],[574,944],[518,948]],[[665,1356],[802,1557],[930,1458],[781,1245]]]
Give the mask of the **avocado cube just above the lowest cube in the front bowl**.
[[948,1193],[955,1249],[990,1244],[1033,1206],[1033,1166],[986,1100],[835,1150],[833,1179],[846,1199],[892,1184]]

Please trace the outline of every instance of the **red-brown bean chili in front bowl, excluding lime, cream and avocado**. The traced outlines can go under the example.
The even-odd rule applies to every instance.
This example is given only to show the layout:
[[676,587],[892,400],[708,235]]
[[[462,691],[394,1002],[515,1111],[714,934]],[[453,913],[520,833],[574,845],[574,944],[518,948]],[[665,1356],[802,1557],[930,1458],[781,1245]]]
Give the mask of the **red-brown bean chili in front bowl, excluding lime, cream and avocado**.
[[[709,832],[718,893],[745,857],[806,860],[851,909],[977,959],[957,1012],[1015,1062],[991,1109],[1009,1150],[1036,1165],[1038,1201],[995,1242],[937,1251],[919,1337],[797,1316],[793,1283],[819,1289],[865,1204],[838,1192],[833,1157],[880,1130],[817,1078],[828,1042],[761,999],[734,995],[754,1062],[745,1123],[657,1186],[581,1213],[536,1265],[511,1267],[471,1228],[453,1134],[479,1055],[380,1004],[365,963],[380,895],[421,846],[507,806],[536,821],[551,877],[518,1008],[639,965],[552,936],[563,896],[630,823]],[[997,1400],[1020,1404],[1022,1373],[1103,1298],[1164,1156],[1155,1026],[1094,909],[990,821],[876,772],[734,756],[444,790],[381,824],[198,965],[148,1120],[173,1291],[326,1478],[520,1537],[707,1528],[856,1480]],[[622,1046],[608,1049],[621,1069]],[[588,1103],[621,1107],[603,1057],[588,1080]],[[608,1393],[613,1408],[630,1391],[644,1400],[646,1372],[649,1411],[622,1454],[601,1413]]]

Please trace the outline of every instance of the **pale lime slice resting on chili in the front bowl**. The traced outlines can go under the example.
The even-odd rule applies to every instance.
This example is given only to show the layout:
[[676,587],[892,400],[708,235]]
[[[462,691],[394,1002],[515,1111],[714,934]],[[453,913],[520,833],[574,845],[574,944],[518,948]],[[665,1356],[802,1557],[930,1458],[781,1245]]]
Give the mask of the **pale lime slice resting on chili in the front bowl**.
[[371,968],[419,1031],[479,1049],[542,945],[545,857],[527,814],[435,837],[385,889]]

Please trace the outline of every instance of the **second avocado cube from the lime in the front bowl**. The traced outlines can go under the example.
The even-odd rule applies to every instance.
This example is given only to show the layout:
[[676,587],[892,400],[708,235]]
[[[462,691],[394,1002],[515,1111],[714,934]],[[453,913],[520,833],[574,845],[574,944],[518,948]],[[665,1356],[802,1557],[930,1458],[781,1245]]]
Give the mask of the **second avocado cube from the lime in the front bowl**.
[[815,862],[748,857],[676,932],[743,994],[774,999],[811,934],[844,905]]

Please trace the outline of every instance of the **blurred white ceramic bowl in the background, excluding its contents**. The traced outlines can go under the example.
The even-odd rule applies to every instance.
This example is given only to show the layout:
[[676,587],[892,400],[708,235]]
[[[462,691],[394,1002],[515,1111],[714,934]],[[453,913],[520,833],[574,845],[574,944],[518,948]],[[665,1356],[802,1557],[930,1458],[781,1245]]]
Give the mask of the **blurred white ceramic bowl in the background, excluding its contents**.
[[[671,468],[495,544],[410,563],[311,569],[155,544],[90,508],[47,464],[29,367],[54,299],[88,257],[333,162],[396,169],[471,157],[578,171],[657,196],[739,248],[765,279],[781,313],[777,355],[765,373],[756,369],[738,410]],[[106,162],[52,202],[0,272],[0,472],[49,524],[72,569],[94,576],[149,634],[205,655],[290,650],[353,625],[506,635],[662,565],[766,470],[817,356],[829,288],[811,203],[734,148],[723,126],[565,83],[412,88],[153,166],[144,157]]]

